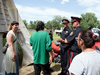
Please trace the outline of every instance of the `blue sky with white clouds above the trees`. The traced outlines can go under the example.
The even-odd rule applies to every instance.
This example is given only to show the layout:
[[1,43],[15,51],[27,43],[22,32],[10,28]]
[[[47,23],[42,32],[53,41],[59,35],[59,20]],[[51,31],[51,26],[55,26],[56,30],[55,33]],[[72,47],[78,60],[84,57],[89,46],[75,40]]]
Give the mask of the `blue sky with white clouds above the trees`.
[[44,22],[54,16],[81,17],[81,14],[94,13],[100,20],[100,0],[13,0],[22,20]]

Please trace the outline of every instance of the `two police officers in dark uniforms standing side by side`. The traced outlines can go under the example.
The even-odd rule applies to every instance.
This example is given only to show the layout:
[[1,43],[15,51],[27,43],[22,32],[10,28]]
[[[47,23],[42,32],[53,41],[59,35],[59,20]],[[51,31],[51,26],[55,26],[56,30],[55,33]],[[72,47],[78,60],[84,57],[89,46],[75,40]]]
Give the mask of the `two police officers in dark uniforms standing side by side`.
[[62,71],[58,75],[69,75],[68,68],[72,59],[79,53],[81,49],[77,45],[75,37],[81,32],[82,28],[80,26],[81,19],[78,17],[71,17],[71,24],[74,28],[73,31],[68,27],[69,21],[67,19],[62,20],[64,29],[61,33],[61,38],[58,39],[58,42],[61,42],[60,45],[60,55],[61,55],[61,67]]

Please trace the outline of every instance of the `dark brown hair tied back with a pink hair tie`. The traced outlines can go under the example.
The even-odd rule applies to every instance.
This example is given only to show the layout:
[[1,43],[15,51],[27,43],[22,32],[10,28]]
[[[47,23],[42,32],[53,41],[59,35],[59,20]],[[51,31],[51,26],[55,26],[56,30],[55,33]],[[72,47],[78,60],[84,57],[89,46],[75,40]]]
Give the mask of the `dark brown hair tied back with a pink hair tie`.
[[99,36],[94,35],[91,30],[82,30],[80,32],[80,38],[83,39],[86,48],[92,48],[95,42],[99,42]]

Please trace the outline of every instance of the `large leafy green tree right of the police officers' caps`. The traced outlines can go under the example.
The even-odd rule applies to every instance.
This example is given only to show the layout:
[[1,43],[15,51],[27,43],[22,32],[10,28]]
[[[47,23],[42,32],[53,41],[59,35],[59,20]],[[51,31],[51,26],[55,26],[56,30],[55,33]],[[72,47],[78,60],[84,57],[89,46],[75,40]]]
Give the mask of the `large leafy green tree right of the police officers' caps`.
[[82,29],[88,29],[91,26],[96,28],[100,25],[94,13],[81,14],[81,19]]

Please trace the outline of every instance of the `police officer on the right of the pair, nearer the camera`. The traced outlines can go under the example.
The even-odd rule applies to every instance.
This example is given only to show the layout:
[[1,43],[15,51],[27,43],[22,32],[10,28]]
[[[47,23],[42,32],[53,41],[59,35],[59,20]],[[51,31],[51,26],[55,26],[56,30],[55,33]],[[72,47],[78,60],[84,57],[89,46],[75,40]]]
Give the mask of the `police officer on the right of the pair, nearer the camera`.
[[81,53],[81,51],[82,51],[78,47],[77,41],[75,40],[75,38],[78,36],[79,32],[82,30],[82,28],[80,26],[80,21],[81,21],[81,18],[71,17],[71,23],[72,23],[72,27],[74,28],[74,30],[70,33],[70,35],[65,40],[62,40],[63,42],[65,42],[67,44],[70,43],[68,46],[69,55],[67,55],[67,57],[68,57],[67,75],[69,75],[68,68],[70,66],[70,63],[72,62],[72,59],[77,54]]

